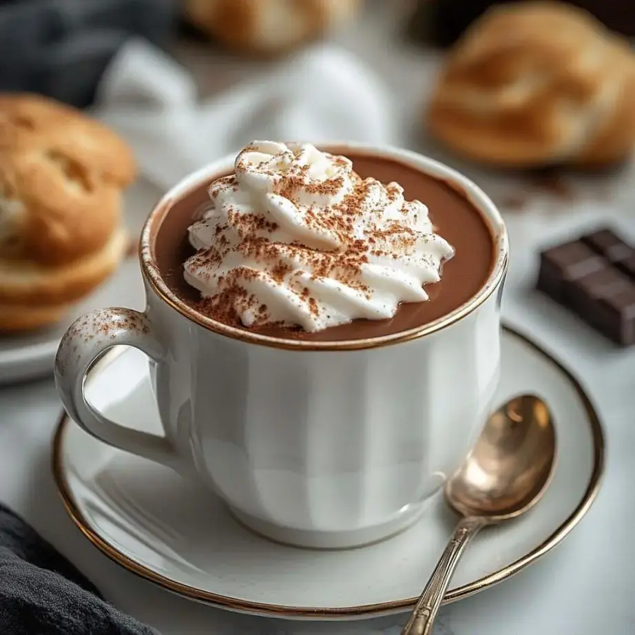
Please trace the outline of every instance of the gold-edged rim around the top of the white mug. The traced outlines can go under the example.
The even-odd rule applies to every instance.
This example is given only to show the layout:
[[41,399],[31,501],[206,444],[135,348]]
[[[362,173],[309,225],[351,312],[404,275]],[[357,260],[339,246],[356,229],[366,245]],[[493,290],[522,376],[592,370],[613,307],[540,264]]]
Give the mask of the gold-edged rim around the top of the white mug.
[[[466,176],[460,174],[457,170],[440,163],[427,156],[422,156],[416,152],[410,152],[408,150],[399,149],[391,146],[376,147],[366,143],[350,143],[350,142],[332,142],[325,144],[318,144],[321,149],[327,152],[333,152],[335,154],[346,154],[346,152],[368,152],[372,153],[377,158],[388,158],[395,160],[404,165],[419,169],[424,174],[430,174],[435,178],[444,180],[450,187],[461,191],[466,198],[474,205],[479,212],[484,216],[481,209],[486,207],[490,211],[495,211],[497,216],[500,216],[498,208],[483,190],[473,183]],[[226,159],[227,160],[227,159]],[[426,167],[421,167],[421,160],[424,160]],[[220,168],[221,163],[225,160],[220,160],[213,165],[218,165],[218,174],[225,174]],[[211,167],[204,167],[198,172],[192,174],[180,185],[184,187],[184,183],[190,183],[189,187],[183,189],[178,195],[183,196],[188,192],[193,191],[200,187],[203,183],[209,183],[214,176],[209,176]],[[442,173],[443,176],[439,176],[437,172]],[[180,187],[176,186],[175,189]],[[497,229],[492,227],[491,223],[486,219],[486,222],[490,226],[492,232],[492,238],[495,241],[495,247],[497,247],[497,258],[494,263],[494,267],[486,280],[481,290],[468,302],[462,304],[454,311],[444,315],[444,317],[428,322],[421,326],[415,327],[415,329],[409,329],[408,331],[402,331],[400,333],[392,333],[391,335],[383,335],[382,337],[371,337],[363,340],[342,340],[337,342],[319,342],[319,341],[306,341],[306,340],[284,340],[282,337],[271,337],[270,335],[261,335],[260,333],[250,333],[243,329],[238,329],[235,326],[229,326],[222,322],[217,322],[212,318],[207,317],[199,313],[195,309],[192,309],[187,302],[183,302],[178,296],[169,289],[163,276],[161,275],[156,263],[154,262],[154,238],[160,228],[165,216],[169,213],[171,205],[174,203],[176,196],[174,190],[169,191],[158,204],[154,207],[151,214],[148,216],[143,231],[141,232],[140,244],[139,244],[139,259],[141,263],[141,271],[143,278],[149,287],[163,300],[166,304],[171,306],[172,309],[183,315],[185,318],[198,324],[199,326],[214,331],[220,335],[231,337],[234,340],[240,340],[242,342],[250,342],[251,344],[260,344],[262,346],[271,346],[274,348],[284,348],[289,351],[351,351],[361,348],[379,348],[379,346],[390,346],[391,344],[401,344],[402,342],[408,342],[415,340],[418,337],[424,337],[424,335],[430,335],[445,329],[451,324],[455,324],[459,320],[462,320],[467,315],[475,311],[483,302],[485,302],[505,278],[509,264],[509,241],[507,236],[507,230],[504,222],[501,218],[501,228]],[[154,229],[156,226],[156,230]]]

